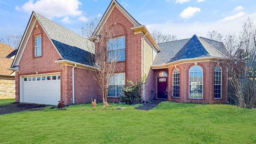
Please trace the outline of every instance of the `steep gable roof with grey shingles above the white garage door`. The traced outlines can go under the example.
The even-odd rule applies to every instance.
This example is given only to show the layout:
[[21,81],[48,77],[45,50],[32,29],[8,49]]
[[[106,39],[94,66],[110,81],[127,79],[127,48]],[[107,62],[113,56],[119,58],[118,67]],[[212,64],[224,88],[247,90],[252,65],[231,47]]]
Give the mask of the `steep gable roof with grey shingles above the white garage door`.
[[93,42],[79,34],[76,34],[75,32],[72,32],[71,30],[68,30],[67,28],[64,28],[63,26],[60,26],[48,18],[37,14],[36,12],[32,12],[28,26],[14,58],[14,62],[12,63],[12,68],[18,66],[22,53],[24,52],[24,48],[26,47],[26,42],[28,41],[36,21],[41,25],[61,59],[69,60],[71,62],[82,62],[81,64],[89,63],[86,62],[86,59],[83,61],[80,59],[84,57],[82,55],[84,53],[94,54]]

